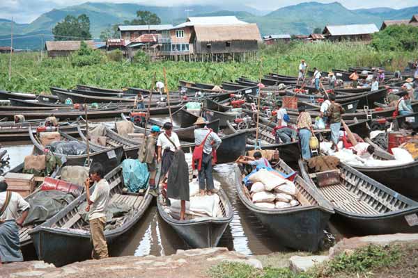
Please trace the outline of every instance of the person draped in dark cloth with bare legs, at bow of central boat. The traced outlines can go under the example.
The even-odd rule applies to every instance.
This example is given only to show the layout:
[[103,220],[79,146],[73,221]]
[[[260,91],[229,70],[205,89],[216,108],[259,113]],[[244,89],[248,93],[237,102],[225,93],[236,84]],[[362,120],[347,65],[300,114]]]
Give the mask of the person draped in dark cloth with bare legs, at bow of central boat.
[[185,153],[176,149],[167,179],[167,197],[180,199],[180,220],[185,220],[186,201],[189,201],[189,165]]

